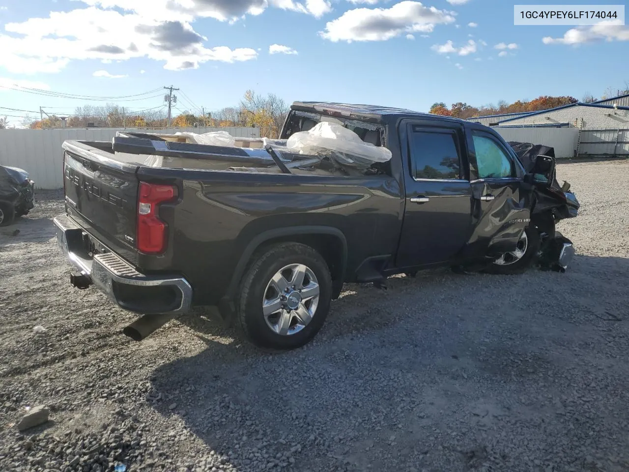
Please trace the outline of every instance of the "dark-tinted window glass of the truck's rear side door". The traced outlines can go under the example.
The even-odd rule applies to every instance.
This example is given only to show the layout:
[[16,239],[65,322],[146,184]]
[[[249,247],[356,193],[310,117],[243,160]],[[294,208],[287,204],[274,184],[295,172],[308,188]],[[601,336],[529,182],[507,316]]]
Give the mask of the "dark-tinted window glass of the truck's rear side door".
[[414,128],[409,139],[415,179],[461,179],[455,130]]

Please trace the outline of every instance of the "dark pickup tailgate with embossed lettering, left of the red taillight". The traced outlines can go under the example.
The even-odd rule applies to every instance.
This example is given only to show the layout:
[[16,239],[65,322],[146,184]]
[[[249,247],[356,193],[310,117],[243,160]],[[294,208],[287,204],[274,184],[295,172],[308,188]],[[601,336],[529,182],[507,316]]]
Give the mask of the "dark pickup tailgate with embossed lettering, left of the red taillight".
[[115,160],[108,144],[64,143],[68,215],[130,262],[136,262],[137,164]]

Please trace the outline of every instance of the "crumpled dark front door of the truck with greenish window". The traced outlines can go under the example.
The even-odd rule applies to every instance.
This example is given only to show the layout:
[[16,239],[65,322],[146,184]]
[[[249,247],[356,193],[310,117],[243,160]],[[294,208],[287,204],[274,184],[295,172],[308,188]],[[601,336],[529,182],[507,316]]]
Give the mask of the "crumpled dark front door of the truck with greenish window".
[[515,153],[493,133],[468,130],[467,147],[474,232],[465,256],[513,251],[531,217],[531,192],[523,189],[523,168]]

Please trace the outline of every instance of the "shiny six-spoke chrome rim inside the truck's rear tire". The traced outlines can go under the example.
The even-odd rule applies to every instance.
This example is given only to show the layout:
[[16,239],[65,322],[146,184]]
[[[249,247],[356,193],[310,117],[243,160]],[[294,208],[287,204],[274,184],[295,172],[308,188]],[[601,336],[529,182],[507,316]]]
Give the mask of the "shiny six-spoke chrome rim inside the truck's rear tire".
[[315,273],[308,266],[290,264],[279,269],[262,297],[269,328],[282,336],[303,330],[315,316],[319,291]]

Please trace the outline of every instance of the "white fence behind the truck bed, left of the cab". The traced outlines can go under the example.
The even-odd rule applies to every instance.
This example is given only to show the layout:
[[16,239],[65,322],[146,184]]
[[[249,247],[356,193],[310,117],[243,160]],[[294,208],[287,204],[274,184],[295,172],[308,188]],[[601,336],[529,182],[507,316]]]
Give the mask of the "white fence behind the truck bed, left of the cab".
[[[207,133],[226,131],[239,138],[259,138],[259,128],[168,128],[145,130],[126,128],[129,132]],[[65,140],[111,141],[121,128],[57,128],[54,130],[0,130],[0,165],[24,169],[38,188],[63,188],[62,143]]]

